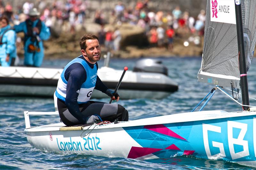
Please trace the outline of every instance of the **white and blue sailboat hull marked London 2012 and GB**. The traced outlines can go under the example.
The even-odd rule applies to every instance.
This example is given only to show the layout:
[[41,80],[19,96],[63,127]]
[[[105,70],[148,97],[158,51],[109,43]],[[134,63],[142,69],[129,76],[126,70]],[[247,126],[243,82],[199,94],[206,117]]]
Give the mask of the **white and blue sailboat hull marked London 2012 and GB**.
[[61,154],[132,159],[193,155],[256,167],[256,112],[189,112],[82,130],[63,126],[57,123],[25,129],[28,142],[42,151]]

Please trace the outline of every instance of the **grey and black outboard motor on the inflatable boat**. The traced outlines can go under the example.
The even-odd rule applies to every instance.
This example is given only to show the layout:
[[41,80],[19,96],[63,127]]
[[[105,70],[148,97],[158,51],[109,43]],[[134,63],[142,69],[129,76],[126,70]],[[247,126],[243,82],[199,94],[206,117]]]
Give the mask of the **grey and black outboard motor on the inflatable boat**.
[[168,69],[157,59],[141,59],[136,62],[134,72],[162,73],[168,76]]

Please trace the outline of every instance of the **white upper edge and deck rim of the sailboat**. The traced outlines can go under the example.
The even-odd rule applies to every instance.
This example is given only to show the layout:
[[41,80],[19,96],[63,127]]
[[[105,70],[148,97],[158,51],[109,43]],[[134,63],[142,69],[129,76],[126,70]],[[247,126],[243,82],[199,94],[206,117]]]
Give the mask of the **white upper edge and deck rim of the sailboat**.
[[[215,114],[213,112],[215,112]],[[90,125],[89,127],[84,126],[81,130],[123,128],[123,127],[135,127],[135,126],[180,123],[180,122],[195,122],[195,121],[203,121],[203,120],[223,119],[223,118],[229,118],[229,117],[244,117],[244,116],[252,116],[252,115],[255,115],[255,118],[256,118],[256,111],[226,112],[223,110],[211,110],[211,111],[186,112],[186,113],[163,115],[163,116],[157,116],[157,117],[132,120],[128,122],[119,122],[116,124],[110,123],[104,126],[95,124],[96,126],[95,125]],[[65,126],[64,123],[53,123],[48,125],[30,127],[28,129],[24,129],[24,131],[25,132],[60,131],[60,128],[64,126]],[[65,131],[70,131],[70,130],[65,130]]]

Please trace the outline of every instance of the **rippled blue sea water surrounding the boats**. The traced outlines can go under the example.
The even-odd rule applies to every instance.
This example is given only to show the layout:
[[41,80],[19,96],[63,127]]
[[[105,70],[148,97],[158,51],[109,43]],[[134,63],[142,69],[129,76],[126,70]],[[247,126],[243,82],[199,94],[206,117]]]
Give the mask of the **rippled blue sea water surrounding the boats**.
[[[120,100],[118,103],[129,111],[130,120],[190,112],[214,87],[197,82],[201,57],[159,60],[167,66],[169,76],[179,84],[179,90],[161,100]],[[43,66],[64,67],[69,61],[45,60]],[[132,70],[136,61],[137,59],[111,59],[110,67],[123,69],[128,66]],[[103,61],[100,61],[99,66],[102,65]],[[256,98],[256,58],[248,72],[248,81],[250,97]],[[108,102],[109,99],[99,101]],[[250,104],[255,106],[256,100],[250,99]],[[23,114],[26,110],[54,111],[53,99],[0,97],[0,169],[252,169],[235,163],[197,159],[193,156],[136,160],[42,152],[27,141]],[[239,111],[240,107],[217,91],[204,110]],[[33,116],[30,122],[31,125],[43,125],[59,122],[59,118],[58,115]]]

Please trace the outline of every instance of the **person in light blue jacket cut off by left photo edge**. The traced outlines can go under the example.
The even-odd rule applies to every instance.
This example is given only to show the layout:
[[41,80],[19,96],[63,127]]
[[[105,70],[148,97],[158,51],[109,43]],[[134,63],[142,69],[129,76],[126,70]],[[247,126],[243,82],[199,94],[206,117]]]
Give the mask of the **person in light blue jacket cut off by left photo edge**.
[[0,18],[0,65],[13,66],[17,56],[16,33],[6,16]]

